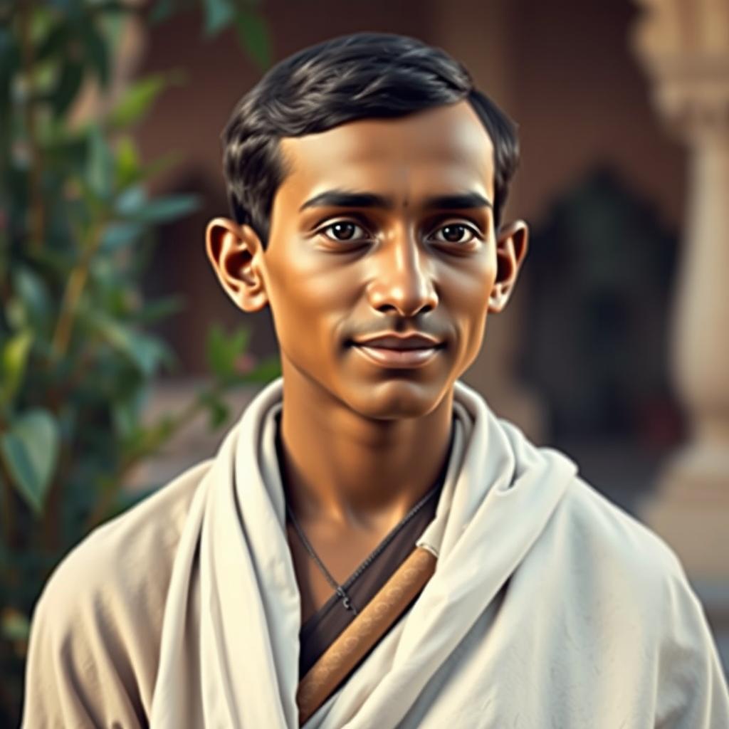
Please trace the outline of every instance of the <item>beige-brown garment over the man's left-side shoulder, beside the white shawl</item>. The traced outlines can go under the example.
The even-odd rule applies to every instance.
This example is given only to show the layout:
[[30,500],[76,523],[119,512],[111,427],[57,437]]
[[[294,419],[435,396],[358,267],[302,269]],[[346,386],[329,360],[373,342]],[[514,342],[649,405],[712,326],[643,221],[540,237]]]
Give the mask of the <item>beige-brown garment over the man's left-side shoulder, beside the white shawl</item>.
[[28,725],[63,716],[66,725],[135,726],[144,715],[177,545],[209,466],[198,464],[98,527],[56,567],[31,623]]

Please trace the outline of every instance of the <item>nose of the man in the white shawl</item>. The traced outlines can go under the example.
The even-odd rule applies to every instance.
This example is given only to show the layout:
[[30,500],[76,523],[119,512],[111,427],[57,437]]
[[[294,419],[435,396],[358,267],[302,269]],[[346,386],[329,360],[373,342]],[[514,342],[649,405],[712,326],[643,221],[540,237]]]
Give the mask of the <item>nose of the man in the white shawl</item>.
[[[376,262],[375,262],[376,261]],[[437,306],[438,296],[429,260],[413,236],[403,233],[383,246],[369,289],[370,305],[377,311],[415,316]]]

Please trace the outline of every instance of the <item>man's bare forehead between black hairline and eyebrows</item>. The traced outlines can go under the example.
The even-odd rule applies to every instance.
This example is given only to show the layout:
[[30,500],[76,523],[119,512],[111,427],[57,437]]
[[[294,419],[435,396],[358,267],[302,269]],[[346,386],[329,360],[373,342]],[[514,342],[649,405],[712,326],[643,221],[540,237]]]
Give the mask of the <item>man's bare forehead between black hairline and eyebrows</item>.
[[325,190],[377,192],[416,204],[448,192],[494,195],[494,148],[467,101],[394,120],[357,120],[281,140],[287,175],[274,208]]

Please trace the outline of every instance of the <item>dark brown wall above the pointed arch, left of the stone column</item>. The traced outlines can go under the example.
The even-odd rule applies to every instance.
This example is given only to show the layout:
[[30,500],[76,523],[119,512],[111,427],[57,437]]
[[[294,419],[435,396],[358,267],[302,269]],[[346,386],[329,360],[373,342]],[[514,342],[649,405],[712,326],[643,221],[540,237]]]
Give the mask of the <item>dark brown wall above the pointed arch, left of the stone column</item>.
[[684,155],[660,129],[630,50],[636,14],[628,1],[512,4],[513,113],[523,145],[515,192],[527,216],[537,219],[555,193],[606,160],[666,220],[681,220]]

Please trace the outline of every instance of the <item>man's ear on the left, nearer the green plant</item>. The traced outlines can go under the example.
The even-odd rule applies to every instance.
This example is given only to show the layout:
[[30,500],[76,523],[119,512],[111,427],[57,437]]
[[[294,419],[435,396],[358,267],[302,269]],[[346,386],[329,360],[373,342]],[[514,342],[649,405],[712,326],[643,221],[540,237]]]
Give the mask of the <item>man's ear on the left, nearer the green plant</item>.
[[262,270],[264,249],[249,225],[214,218],[205,233],[208,259],[235,305],[243,311],[260,311],[268,304]]

